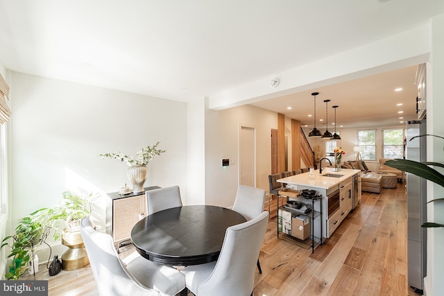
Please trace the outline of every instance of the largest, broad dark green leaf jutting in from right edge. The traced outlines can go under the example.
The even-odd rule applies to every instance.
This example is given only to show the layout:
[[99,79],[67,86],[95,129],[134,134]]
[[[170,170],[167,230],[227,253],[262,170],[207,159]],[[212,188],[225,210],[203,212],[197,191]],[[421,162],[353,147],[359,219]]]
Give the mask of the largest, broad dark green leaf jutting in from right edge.
[[408,159],[392,159],[386,161],[384,164],[386,164],[386,166],[391,166],[392,168],[398,168],[400,171],[423,177],[424,179],[444,187],[444,175],[436,171],[434,168],[430,168],[426,164]]

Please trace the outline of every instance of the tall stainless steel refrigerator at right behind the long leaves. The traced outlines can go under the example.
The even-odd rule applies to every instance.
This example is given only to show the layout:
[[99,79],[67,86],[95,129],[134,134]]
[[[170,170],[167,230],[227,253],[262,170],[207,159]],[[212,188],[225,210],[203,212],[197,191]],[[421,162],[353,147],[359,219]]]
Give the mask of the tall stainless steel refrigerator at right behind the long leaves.
[[[407,123],[406,159],[426,162],[426,137],[412,137],[426,134],[425,119]],[[422,293],[427,272],[427,180],[407,173],[407,250],[409,264],[409,286]]]

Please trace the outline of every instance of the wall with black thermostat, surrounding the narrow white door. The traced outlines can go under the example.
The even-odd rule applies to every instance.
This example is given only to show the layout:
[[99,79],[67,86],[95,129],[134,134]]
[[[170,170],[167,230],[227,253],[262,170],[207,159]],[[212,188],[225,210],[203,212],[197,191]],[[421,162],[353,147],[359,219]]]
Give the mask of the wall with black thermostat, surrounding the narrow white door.
[[[205,116],[205,203],[232,207],[239,184],[237,155],[241,125],[256,128],[256,186],[268,191],[271,171],[271,129],[278,128],[278,114],[250,105],[223,111],[207,110]],[[234,165],[222,167],[223,158]]]

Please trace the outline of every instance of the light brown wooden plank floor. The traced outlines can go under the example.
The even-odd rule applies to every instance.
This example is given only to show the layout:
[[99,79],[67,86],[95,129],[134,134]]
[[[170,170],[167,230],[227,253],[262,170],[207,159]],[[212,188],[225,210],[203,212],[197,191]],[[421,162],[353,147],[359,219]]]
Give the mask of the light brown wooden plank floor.
[[[314,254],[277,238],[269,221],[254,294],[418,295],[407,284],[406,206],[404,184],[363,193],[359,207]],[[40,270],[37,279],[49,280],[49,295],[98,295],[89,266],[54,277],[46,266]]]

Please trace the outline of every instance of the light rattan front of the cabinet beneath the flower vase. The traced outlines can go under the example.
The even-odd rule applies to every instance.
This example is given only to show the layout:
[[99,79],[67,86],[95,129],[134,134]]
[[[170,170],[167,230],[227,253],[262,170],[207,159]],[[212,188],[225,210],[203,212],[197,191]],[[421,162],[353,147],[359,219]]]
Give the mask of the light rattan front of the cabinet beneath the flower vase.
[[144,217],[145,195],[113,200],[112,204],[112,237],[114,242],[130,238],[133,226]]

